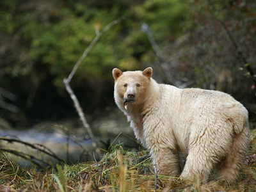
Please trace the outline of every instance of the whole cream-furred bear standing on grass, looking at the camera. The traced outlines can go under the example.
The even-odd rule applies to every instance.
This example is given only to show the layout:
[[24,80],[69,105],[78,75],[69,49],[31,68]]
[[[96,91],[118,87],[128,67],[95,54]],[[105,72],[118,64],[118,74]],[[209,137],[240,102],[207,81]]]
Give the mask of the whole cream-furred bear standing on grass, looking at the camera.
[[[199,88],[158,84],[152,68],[113,69],[115,102],[150,150],[160,174],[236,182],[248,150],[248,111],[230,95]],[[180,154],[186,158],[184,167]]]

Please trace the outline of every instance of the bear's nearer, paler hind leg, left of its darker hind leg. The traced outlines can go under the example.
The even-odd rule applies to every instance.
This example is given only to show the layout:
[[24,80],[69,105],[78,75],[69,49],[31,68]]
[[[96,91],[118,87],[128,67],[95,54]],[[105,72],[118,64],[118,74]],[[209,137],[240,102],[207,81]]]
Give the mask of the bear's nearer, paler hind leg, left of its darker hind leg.
[[[201,126],[198,132],[193,133],[194,137],[191,136],[189,143],[189,154],[181,173],[182,178],[193,180],[196,176],[200,181],[206,182],[214,165],[225,157],[225,151],[229,148],[228,142],[223,142],[223,138],[218,136],[216,129],[218,126],[217,128],[209,127],[209,129]],[[227,141],[231,140],[231,135],[225,135]]]

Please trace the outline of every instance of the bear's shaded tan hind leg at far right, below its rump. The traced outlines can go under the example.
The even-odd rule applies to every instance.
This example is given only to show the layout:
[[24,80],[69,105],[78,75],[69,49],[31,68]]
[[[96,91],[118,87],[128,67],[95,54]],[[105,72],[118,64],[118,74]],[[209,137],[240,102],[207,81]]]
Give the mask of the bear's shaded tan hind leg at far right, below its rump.
[[234,134],[233,143],[223,161],[217,164],[217,177],[234,183],[239,176],[239,171],[244,164],[244,158],[248,148],[248,127],[244,127],[239,134]]

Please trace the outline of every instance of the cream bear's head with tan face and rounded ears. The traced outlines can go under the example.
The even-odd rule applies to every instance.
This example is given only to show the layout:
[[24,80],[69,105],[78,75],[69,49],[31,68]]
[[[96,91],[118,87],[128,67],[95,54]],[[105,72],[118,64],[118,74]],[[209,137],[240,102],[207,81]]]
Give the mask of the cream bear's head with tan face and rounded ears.
[[152,68],[143,71],[122,72],[118,68],[113,69],[115,79],[115,100],[120,108],[127,109],[127,104],[141,104],[147,98]]

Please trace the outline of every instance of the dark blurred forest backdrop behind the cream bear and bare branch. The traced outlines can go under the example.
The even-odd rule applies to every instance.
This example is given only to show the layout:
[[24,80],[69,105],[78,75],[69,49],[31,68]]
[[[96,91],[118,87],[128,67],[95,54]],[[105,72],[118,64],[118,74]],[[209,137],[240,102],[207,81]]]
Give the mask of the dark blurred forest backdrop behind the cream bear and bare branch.
[[122,17],[100,37],[70,83],[86,114],[116,108],[114,67],[153,67],[159,83],[221,90],[255,114],[255,1],[3,0],[1,118],[20,128],[77,117],[63,78],[95,29]]

